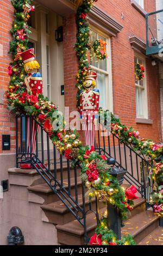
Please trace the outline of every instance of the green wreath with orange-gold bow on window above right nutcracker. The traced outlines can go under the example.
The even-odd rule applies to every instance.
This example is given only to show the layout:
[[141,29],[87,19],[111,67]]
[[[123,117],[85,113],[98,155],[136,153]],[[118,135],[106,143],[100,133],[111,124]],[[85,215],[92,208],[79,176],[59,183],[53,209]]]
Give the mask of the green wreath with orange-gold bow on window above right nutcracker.
[[95,53],[96,58],[98,59],[106,59],[106,42],[102,39],[98,39],[93,43],[93,52]]

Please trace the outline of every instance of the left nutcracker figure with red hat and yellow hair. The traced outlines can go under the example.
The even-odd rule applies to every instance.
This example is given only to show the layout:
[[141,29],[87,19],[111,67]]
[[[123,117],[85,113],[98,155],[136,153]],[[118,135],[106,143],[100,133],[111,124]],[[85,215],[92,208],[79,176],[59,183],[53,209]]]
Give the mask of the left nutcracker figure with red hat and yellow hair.
[[[24,78],[24,84],[27,92],[31,95],[37,96],[42,94],[42,77],[38,72],[40,65],[35,59],[34,48],[31,48],[20,54],[24,63],[24,70],[28,73],[28,76]],[[36,148],[36,123],[32,119],[32,131],[30,132],[30,119],[27,118],[27,151],[28,153],[35,153]],[[37,126],[37,133],[39,132],[39,126]],[[30,148],[30,141],[32,140],[32,149]],[[28,155],[29,157],[30,155]],[[30,161],[22,161],[21,168],[30,169]]]

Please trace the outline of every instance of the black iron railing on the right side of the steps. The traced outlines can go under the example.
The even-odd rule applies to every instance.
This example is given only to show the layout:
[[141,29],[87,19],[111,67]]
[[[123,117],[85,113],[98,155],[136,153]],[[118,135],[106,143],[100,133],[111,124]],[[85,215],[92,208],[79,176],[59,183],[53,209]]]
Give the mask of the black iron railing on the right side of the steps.
[[113,157],[117,167],[127,170],[124,180],[127,184],[133,184],[137,188],[140,196],[146,199],[148,208],[153,187],[153,182],[149,178],[152,161],[135,151],[130,145],[121,143],[121,139],[117,135],[103,127],[97,131],[95,149],[99,155]]

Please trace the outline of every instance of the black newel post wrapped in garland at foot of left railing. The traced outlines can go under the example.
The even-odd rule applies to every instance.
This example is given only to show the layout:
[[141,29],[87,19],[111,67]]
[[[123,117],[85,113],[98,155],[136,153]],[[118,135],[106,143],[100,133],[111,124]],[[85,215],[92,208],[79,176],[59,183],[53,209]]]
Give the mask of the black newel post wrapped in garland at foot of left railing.
[[[109,174],[115,176],[121,185],[123,183],[124,175],[127,170],[118,169],[117,167],[113,167]],[[108,212],[108,228],[112,229],[117,236],[117,239],[121,239],[121,217],[117,207],[112,205],[110,202],[107,202],[107,212]]]

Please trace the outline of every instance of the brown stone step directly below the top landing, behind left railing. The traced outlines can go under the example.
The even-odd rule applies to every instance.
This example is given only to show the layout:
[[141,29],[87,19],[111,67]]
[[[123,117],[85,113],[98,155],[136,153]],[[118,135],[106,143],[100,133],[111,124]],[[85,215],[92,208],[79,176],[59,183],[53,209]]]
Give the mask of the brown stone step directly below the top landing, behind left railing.
[[[64,184],[64,188],[68,192],[67,179],[63,180],[63,184]],[[70,194],[72,197],[75,196],[76,190],[78,194],[82,194],[82,181],[80,179],[80,176],[77,177],[77,184],[74,178],[70,179],[70,184],[71,184]],[[59,191],[59,187],[57,187],[57,190]],[[59,197],[56,194],[54,194],[54,192],[46,183],[42,183],[35,186],[29,186],[28,191],[30,192],[28,195],[29,202],[49,204],[49,203],[57,202],[59,200]],[[42,203],[42,199],[43,199],[43,203]]]

